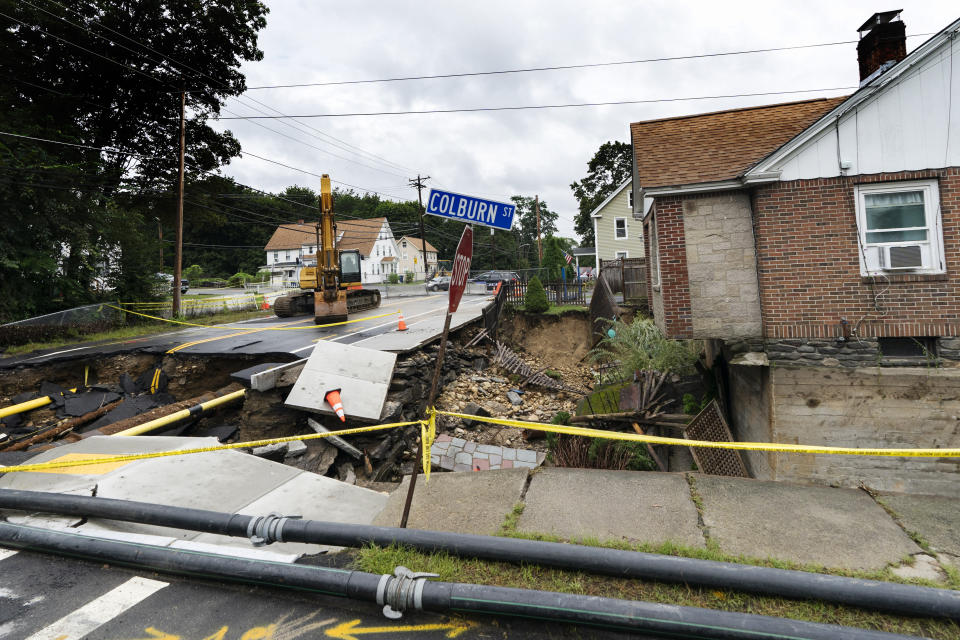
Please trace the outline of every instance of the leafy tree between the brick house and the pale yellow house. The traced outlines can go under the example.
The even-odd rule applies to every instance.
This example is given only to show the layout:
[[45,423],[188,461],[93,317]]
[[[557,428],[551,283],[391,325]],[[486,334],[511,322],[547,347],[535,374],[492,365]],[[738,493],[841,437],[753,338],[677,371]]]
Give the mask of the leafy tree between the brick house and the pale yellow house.
[[604,142],[587,163],[587,176],[570,185],[580,202],[574,229],[584,246],[595,246],[590,214],[633,175],[633,148],[626,142]]

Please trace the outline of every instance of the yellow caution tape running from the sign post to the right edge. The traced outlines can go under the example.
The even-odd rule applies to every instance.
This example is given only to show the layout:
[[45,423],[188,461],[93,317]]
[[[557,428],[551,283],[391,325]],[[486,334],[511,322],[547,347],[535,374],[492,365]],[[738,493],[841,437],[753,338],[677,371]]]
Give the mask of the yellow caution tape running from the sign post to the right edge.
[[669,444],[682,447],[703,447],[707,449],[739,449],[742,451],[779,451],[788,453],[827,453],[844,456],[897,456],[910,458],[960,458],[960,449],[857,449],[853,447],[825,447],[803,444],[780,444],[767,442],[712,442],[708,440],[685,440],[683,438],[662,438],[660,436],[642,436],[638,433],[623,433],[621,431],[603,431],[601,429],[587,429],[571,427],[562,424],[543,424],[540,422],[526,422],[524,420],[504,420],[502,418],[487,418],[472,416],[466,413],[451,411],[436,411],[436,415],[464,418],[490,424],[499,424],[506,427],[520,427],[521,429],[535,429],[551,433],[562,433],[570,436],[584,436],[587,438],[606,438],[607,440],[631,440],[648,444]]

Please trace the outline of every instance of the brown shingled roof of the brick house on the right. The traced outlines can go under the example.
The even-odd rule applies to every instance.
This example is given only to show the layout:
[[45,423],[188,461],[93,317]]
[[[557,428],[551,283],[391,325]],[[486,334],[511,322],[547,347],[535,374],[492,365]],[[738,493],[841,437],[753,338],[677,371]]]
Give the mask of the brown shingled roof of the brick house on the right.
[[817,98],[634,122],[630,136],[639,186],[736,178],[844,100]]

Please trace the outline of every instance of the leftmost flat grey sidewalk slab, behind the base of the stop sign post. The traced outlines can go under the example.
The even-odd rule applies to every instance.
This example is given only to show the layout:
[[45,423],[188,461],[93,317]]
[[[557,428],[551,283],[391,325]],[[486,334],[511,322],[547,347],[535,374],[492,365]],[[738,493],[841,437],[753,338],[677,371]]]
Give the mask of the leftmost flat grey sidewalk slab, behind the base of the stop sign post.
[[[417,478],[407,526],[411,529],[453,531],[492,535],[520,501],[527,482],[526,469],[502,469],[485,473],[434,473],[427,483]],[[373,524],[396,527],[400,524],[410,477],[390,494],[387,506]]]

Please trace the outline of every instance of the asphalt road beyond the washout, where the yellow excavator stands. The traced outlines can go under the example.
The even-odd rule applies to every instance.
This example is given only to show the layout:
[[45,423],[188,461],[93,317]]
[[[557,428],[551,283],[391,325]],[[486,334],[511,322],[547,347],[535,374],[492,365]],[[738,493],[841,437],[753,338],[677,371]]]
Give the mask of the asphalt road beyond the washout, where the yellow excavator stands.
[[[465,296],[460,304],[460,311],[479,313],[488,302],[486,296]],[[312,316],[246,320],[224,325],[230,330],[191,327],[129,340],[47,349],[0,359],[0,369],[111,356],[132,351],[209,356],[270,356],[280,361],[288,361],[309,356],[314,345],[320,340],[377,348],[372,341],[379,335],[396,331],[398,319],[395,314],[379,318],[377,316],[402,311],[407,326],[412,332],[417,332],[425,326],[424,323],[429,323],[430,327],[436,326],[436,318],[443,317],[446,306],[446,292],[386,299],[377,309],[352,314],[350,320],[360,320],[359,322],[334,327],[310,328],[314,324]],[[285,330],[273,330],[279,327]],[[298,327],[303,329],[297,329]],[[423,337],[430,339],[435,337],[434,333],[439,332],[431,330]]]

